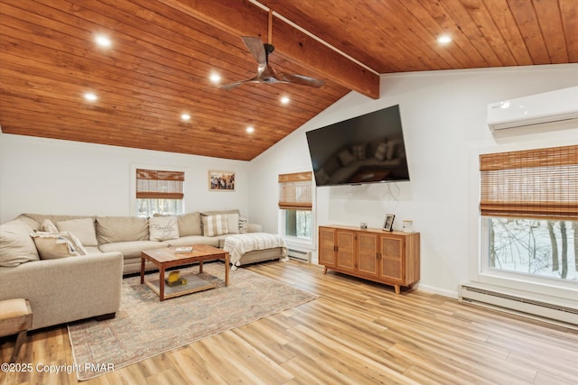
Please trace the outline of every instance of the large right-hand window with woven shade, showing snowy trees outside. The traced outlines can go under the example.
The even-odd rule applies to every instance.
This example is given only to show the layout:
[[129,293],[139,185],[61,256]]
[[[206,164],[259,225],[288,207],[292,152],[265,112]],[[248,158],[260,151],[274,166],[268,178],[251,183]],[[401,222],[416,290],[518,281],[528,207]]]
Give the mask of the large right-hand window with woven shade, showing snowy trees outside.
[[578,283],[578,146],[480,155],[482,272]]

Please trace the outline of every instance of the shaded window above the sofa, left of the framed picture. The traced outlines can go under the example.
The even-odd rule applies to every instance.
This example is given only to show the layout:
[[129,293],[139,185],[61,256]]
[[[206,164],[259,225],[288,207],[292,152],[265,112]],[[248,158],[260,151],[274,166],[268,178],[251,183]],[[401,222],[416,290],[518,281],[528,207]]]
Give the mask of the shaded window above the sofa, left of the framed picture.
[[184,212],[184,172],[136,169],[136,215],[177,215]]

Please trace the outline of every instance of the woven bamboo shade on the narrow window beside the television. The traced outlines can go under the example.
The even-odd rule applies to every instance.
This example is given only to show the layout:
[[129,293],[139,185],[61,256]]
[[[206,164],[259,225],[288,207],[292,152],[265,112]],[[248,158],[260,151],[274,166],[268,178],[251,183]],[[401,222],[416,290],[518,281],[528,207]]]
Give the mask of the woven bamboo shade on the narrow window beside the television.
[[312,209],[312,172],[279,175],[279,208]]

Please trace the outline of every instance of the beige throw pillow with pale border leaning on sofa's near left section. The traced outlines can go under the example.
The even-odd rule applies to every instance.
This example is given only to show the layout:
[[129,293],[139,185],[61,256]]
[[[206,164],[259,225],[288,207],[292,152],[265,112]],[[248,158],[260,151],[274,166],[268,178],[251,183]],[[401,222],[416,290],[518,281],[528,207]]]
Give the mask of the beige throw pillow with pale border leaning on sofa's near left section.
[[76,257],[86,255],[79,240],[69,232],[31,234],[41,260]]

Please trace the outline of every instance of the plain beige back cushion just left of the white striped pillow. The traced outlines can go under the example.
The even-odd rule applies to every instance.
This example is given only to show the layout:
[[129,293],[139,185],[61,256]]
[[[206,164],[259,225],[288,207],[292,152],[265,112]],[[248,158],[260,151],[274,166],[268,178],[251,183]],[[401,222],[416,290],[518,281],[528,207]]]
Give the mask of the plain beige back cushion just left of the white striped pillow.
[[148,241],[148,219],[136,216],[97,216],[97,240],[99,245]]

